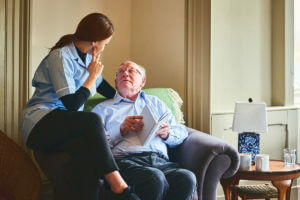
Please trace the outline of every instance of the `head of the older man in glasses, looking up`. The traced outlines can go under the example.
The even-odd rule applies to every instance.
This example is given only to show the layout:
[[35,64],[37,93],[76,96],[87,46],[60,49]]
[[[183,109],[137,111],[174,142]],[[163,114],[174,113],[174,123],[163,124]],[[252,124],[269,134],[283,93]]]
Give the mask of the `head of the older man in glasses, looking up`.
[[145,82],[146,78],[138,71],[136,63],[126,61],[120,65],[117,71],[116,86],[123,97],[138,94]]

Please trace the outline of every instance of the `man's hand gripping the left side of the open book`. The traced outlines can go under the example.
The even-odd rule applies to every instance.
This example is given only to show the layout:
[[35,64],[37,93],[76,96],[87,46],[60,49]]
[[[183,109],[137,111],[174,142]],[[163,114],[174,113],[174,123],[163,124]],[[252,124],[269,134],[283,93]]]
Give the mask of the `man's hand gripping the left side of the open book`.
[[128,116],[120,126],[122,136],[125,136],[129,131],[138,132],[144,127],[143,116]]

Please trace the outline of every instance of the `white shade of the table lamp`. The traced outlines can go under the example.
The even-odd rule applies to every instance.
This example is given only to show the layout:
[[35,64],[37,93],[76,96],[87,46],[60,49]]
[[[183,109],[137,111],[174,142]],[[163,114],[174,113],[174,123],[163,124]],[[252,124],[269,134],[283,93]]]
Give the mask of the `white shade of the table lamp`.
[[266,104],[236,102],[232,130],[238,133],[266,133],[268,131]]

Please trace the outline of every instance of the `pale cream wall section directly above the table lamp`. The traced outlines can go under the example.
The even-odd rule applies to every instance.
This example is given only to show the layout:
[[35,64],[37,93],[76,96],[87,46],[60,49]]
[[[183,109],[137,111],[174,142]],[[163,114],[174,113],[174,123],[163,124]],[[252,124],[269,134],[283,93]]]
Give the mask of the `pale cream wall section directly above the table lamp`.
[[271,1],[212,0],[212,113],[271,102]]

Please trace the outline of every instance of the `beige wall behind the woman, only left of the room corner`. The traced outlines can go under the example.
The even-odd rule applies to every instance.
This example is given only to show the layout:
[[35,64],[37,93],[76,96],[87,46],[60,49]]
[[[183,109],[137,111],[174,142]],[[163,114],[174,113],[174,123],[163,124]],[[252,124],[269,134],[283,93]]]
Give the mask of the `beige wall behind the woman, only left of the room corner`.
[[131,0],[33,0],[31,32],[32,74],[58,39],[74,33],[88,13],[102,12],[115,26],[111,43],[103,53],[104,77],[113,83],[116,66],[130,57]]

